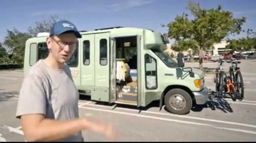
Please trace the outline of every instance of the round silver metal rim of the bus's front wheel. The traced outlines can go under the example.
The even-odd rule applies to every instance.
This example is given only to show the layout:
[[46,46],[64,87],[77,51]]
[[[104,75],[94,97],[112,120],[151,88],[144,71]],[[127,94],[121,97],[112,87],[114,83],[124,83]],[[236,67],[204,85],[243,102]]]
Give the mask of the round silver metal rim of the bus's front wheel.
[[170,105],[175,110],[183,110],[187,106],[187,101],[182,95],[175,94],[170,98]]

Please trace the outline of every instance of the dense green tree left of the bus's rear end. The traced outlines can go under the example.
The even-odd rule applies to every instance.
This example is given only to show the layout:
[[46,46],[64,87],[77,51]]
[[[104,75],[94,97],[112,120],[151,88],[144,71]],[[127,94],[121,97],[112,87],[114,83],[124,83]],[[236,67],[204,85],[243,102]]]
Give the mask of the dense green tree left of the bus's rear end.
[[28,33],[20,32],[15,28],[12,31],[7,30],[7,35],[5,36],[3,44],[10,49],[12,54],[11,61],[13,63],[23,63],[25,43],[30,37],[31,36]]

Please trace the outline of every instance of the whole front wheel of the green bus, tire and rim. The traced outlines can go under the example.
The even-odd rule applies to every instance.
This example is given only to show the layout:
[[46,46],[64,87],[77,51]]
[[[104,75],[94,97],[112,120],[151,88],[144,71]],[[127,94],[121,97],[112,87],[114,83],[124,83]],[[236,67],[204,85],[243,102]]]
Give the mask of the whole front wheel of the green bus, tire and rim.
[[185,90],[176,88],[166,93],[164,104],[169,112],[184,115],[192,108],[192,98]]

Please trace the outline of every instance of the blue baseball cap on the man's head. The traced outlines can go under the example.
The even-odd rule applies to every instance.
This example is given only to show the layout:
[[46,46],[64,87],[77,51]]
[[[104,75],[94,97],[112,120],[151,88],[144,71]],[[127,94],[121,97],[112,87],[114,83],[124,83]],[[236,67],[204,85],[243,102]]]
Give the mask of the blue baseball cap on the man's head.
[[60,35],[62,33],[72,32],[77,38],[81,38],[82,35],[77,31],[77,28],[73,23],[67,20],[55,22],[51,28],[50,36]]

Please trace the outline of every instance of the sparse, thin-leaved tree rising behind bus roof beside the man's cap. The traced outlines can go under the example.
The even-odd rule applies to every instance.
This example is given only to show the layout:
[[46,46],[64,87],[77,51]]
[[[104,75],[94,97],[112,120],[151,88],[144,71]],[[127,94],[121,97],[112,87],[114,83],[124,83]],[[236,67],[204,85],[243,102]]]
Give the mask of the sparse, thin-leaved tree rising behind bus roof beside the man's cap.
[[40,32],[50,32],[53,23],[60,20],[64,19],[60,19],[57,15],[50,16],[48,19],[43,18],[43,20],[37,21],[34,26],[30,26],[28,32],[31,37],[36,37]]

